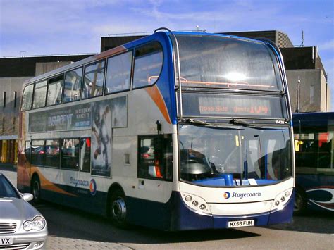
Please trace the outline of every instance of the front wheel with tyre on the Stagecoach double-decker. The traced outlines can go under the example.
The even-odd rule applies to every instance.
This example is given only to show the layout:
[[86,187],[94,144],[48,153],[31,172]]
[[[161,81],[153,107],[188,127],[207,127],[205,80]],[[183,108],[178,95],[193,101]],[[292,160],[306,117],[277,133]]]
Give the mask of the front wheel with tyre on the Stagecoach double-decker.
[[116,189],[109,199],[109,217],[116,227],[126,228],[128,223],[126,220],[127,210],[125,204],[125,195],[120,189]]

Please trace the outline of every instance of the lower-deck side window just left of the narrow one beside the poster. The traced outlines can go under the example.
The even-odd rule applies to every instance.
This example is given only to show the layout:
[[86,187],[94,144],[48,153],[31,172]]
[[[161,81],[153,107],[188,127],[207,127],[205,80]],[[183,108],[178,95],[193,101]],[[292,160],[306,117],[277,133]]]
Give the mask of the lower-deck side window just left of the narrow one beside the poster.
[[79,138],[61,139],[61,168],[79,169]]

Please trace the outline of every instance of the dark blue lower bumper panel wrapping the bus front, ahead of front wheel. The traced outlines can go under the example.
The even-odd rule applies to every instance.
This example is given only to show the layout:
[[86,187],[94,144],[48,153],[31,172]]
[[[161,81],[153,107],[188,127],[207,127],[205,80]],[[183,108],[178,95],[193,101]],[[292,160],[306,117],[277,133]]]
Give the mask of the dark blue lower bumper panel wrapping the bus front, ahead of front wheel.
[[294,199],[288,201],[285,208],[273,213],[255,215],[219,216],[202,215],[188,208],[179,192],[173,192],[171,199],[162,204],[155,201],[127,198],[130,223],[145,225],[159,230],[203,230],[223,229],[230,220],[254,220],[255,226],[289,223],[292,220]]

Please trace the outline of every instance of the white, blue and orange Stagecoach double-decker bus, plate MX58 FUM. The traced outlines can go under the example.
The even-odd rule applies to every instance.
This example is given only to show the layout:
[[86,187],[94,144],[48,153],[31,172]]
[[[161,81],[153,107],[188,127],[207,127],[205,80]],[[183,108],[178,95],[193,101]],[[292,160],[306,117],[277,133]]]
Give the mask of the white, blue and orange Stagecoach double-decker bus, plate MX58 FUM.
[[274,44],[159,29],[25,82],[18,188],[120,227],[289,222],[291,118]]

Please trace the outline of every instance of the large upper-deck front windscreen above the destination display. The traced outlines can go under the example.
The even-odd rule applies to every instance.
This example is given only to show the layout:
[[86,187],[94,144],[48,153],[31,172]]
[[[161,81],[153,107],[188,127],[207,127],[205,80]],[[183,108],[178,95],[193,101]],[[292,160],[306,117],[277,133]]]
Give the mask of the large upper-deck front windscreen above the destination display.
[[184,87],[283,90],[273,51],[261,42],[178,35]]

